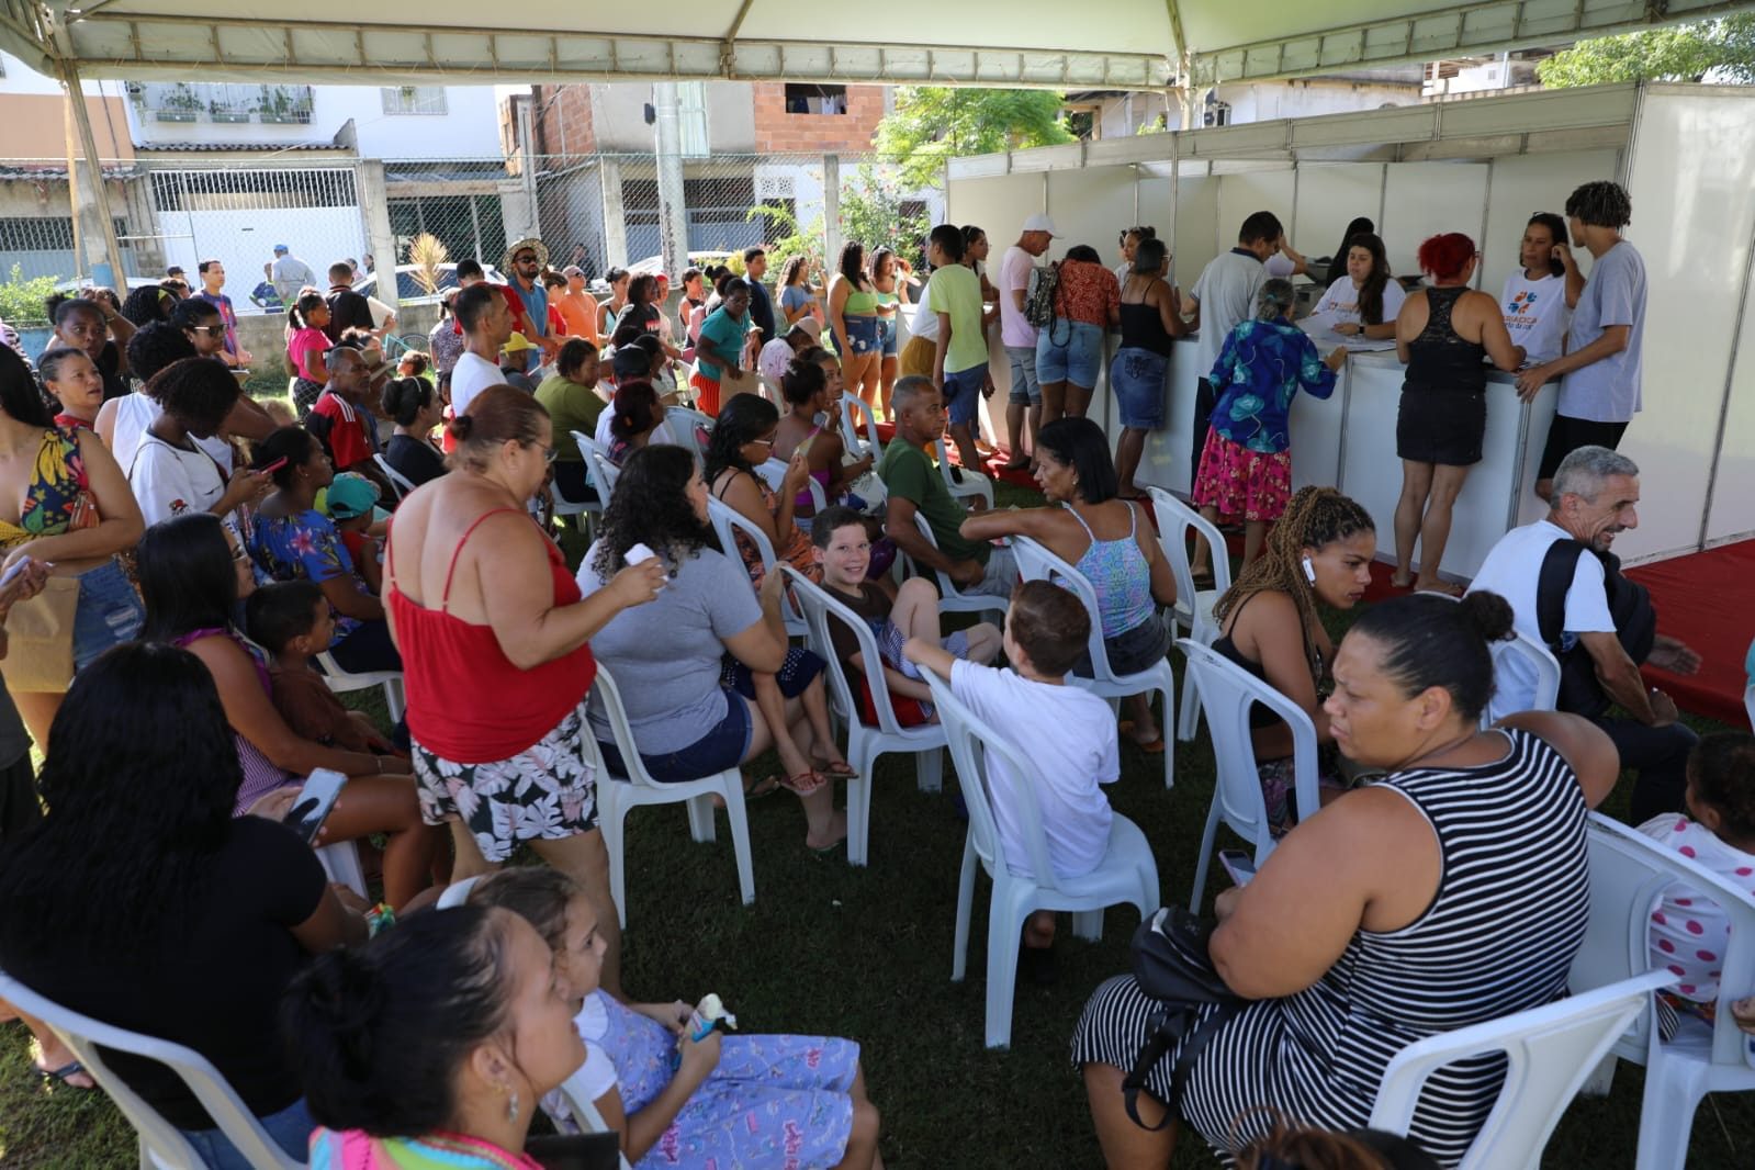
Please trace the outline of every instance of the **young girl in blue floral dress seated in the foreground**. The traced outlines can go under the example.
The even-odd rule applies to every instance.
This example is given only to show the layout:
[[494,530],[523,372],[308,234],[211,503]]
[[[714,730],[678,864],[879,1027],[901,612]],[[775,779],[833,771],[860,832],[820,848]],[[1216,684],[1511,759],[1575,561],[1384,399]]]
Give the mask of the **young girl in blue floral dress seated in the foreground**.
[[469,902],[530,921],[583,996],[584,1065],[542,1098],[562,1131],[579,1130],[574,1110],[590,1102],[637,1170],[881,1170],[856,1042],[720,1030],[695,1040],[688,1003],[620,1003],[598,988],[597,909],[560,870],[502,870]]

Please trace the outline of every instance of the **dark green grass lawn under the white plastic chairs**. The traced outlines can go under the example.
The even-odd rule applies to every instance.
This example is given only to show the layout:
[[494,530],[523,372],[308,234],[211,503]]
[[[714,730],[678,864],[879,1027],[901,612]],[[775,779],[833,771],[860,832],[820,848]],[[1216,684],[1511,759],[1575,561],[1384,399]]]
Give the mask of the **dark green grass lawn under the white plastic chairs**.
[[[1000,488],[1000,503],[1034,493]],[[376,693],[369,693],[376,698]],[[1716,726],[1701,723],[1699,726]],[[1162,763],[1123,740],[1118,812],[1151,840],[1165,902],[1188,896],[1200,826],[1213,795],[1206,731],[1176,746],[1176,788]],[[1128,967],[1132,910],[1111,910],[1102,942],[1062,930],[1058,981],[1020,984],[1011,1049],[983,1047],[986,898],[976,886],[969,979],[949,981],[963,821],[946,791],[921,793],[913,761],[888,756],[872,798],[870,867],[804,849],[792,796],[749,805],[756,902],[741,907],[730,835],[698,845],[679,807],[641,809],[628,823],[625,984],[637,998],[698,1000],[718,991],[751,1031],[832,1033],[863,1045],[872,1100],[883,1110],[883,1156],[897,1168],[1099,1166],[1085,1093],[1067,1063],[1079,1009]],[[1609,812],[1625,816],[1625,782]],[[1223,870],[1209,879],[1223,884]],[[75,879],[75,875],[70,875]],[[97,891],[95,891],[97,893]],[[1483,956],[1483,961],[1497,961]],[[0,1165],[123,1166],[133,1133],[98,1095],[46,1089],[28,1068],[28,1033],[0,1028]],[[1548,1166],[1632,1166],[1641,1070],[1622,1065],[1611,1096],[1580,1100],[1562,1117]],[[1694,1123],[1690,1166],[1755,1159],[1755,1096],[1711,1096]],[[1199,1140],[1176,1166],[1213,1166]]]

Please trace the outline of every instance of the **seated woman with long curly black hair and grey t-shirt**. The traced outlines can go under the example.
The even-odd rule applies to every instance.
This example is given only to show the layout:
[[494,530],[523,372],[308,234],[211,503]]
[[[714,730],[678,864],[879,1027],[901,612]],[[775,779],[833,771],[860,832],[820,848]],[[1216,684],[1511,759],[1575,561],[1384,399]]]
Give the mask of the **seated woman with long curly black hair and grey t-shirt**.
[[[732,403],[744,398],[753,395]],[[646,770],[656,781],[693,781],[774,747],[788,777],[779,784],[804,803],[806,845],[834,849],[848,835],[848,819],[835,812],[825,781],[851,777],[851,768],[828,726],[823,660],[786,644],[784,575],[769,574],[760,596],[751,593],[744,567],[718,549],[707,484],[683,447],[642,447],[628,456],[598,533],[579,567],[586,596],[625,572],[635,546],[655,553],[646,565],[665,575],[655,603],[618,614],[591,639],[621,688]],[[758,688],[762,675],[774,689]],[[591,712],[591,724],[605,761],[618,768],[621,753],[600,710]],[[772,789],[763,781],[746,791]]]

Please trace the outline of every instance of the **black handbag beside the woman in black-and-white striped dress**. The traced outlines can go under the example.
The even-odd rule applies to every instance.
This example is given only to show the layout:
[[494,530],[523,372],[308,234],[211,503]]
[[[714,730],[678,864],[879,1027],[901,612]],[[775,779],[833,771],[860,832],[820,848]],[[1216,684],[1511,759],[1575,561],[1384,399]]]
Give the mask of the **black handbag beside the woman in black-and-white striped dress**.
[[[1139,1049],[1134,1068],[1121,1079],[1123,1103],[1128,1119],[1141,1130],[1162,1130],[1178,1116],[1183,1086],[1200,1052],[1232,1016],[1243,1010],[1244,1000],[1225,986],[1207,942],[1213,924],[1200,921],[1179,905],[1167,905],[1144,919],[1134,931],[1134,982],[1158,1007],[1146,1019],[1146,1044]],[[1200,1009],[1216,1005],[1202,1017]],[[1197,1023],[1199,1021],[1199,1023]],[[1164,1121],[1148,1126],[1139,1119],[1139,1091],[1160,1059],[1176,1052],[1171,1070],[1171,1100],[1164,1102]]]

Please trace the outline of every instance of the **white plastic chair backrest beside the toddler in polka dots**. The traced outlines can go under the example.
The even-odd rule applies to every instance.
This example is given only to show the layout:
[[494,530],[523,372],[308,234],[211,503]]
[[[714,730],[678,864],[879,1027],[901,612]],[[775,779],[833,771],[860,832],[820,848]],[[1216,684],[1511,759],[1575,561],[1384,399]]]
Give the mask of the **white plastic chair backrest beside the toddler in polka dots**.
[[[1651,970],[1651,910],[1674,882],[1711,898],[1730,919],[1730,945],[1720,963],[1722,988],[1755,988],[1755,896],[1706,867],[1667,849],[1644,833],[1592,812],[1590,923],[1572,960],[1574,991],[1620,982]],[[1634,1023],[1634,1040],[1644,1051],[1653,1012]],[[1744,1065],[1744,1042],[1730,1012],[1713,1024],[1713,1063]]]

